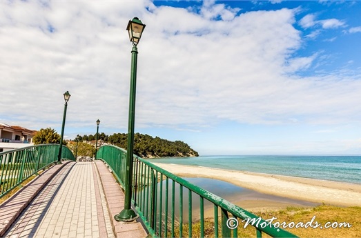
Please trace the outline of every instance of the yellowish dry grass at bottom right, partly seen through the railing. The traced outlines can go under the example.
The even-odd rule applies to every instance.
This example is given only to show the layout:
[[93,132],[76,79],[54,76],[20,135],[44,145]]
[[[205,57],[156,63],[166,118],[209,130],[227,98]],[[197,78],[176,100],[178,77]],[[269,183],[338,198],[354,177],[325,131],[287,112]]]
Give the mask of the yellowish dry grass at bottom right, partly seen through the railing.
[[[317,221],[318,224],[323,227],[284,229],[298,237],[361,237],[361,207],[341,208],[327,205],[321,205],[315,208],[289,207],[284,210],[255,212],[255,215],[262,217],[262,219],[277,218],[273,221],[273,224],[275,224],[276,221],[280,222],[280,224],[282,224],[282,222],[285,222],[286,224],[290,224],[291,222],[294,222],[295,224],[300,222],[306,224],[306,222],[311,221],[313,217],[315,217],[312,224],[315,225],[315,222]],[[346,222],[349,223],[351,227],[324,228],[324,225],[327,222],[331,222],[331,224]],[[253,228],[253,226],[248,225],[246,228],[243,227],[244,223],[240,221],[237,237],[256,237],[255,228]],[[221,237],[222,228],[219,226],[218,230],[219,237]],[[204,221],[204,237],[215,237],[214,232],[215,227],[213,219],[206,219]],[[179,226],[175,228],[175,237],[179,237]],[[183,225],[183,237],[188,237],[188,224]],[[193,222],[192,224],[192,237],[200,237],[199,221]],[[269,237],[269,235],[262,233],[262,237]]]

